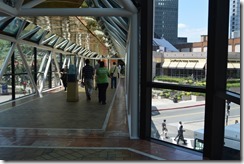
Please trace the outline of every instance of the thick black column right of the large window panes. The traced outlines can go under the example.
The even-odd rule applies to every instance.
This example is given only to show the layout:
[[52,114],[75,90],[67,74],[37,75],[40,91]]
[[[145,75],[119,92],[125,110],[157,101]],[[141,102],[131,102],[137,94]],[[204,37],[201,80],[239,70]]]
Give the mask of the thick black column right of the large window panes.
[[224,147],[228,25],[229,0],[209,0],[203,156],[211,160],[221,160]]

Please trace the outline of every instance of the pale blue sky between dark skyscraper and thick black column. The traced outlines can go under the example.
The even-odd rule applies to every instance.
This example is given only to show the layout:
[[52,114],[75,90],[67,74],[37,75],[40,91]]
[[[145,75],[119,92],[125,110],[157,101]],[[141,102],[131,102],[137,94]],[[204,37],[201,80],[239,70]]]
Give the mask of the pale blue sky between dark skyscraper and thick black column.
[[200,42],[207,35],[208,0],[179,0],[178,37],[187,42]]

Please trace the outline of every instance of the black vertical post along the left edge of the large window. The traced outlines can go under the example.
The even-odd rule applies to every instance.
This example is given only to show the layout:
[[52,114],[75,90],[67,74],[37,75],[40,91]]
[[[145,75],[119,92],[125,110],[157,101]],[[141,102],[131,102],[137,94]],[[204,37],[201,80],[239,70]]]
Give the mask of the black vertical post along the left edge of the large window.
[[140,138],[151,137],[151,95],[152,95],[152,29],[153,3],[142,0],[140,10]]

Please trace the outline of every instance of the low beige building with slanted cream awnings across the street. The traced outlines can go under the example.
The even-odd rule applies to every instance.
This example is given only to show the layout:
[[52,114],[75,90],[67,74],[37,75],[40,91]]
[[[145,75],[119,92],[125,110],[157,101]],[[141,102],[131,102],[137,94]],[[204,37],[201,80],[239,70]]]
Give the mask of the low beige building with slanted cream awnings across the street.
[[[153,77],[163,75],[205,80],[207,42],[208,36],[202,35],[201,42],[176,45],[179,52],[154,52]],[[229,39],[228,43],[227,78],[240,78],[240,38]]]

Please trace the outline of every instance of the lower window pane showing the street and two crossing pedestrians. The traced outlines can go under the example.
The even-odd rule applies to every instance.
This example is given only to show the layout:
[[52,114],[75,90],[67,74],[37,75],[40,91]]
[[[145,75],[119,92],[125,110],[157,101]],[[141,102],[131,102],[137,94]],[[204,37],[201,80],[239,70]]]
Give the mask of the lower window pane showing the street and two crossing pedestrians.
[[[204,128],[205,94],[153,88],[151,110],[152,138],[194,148],[194,132]],[[167,130],[162,127],[164,120]],[[180,121],[184,130],[182,140],[176,137]]]

